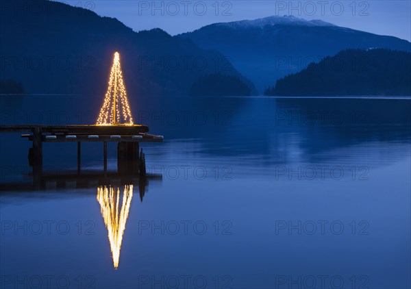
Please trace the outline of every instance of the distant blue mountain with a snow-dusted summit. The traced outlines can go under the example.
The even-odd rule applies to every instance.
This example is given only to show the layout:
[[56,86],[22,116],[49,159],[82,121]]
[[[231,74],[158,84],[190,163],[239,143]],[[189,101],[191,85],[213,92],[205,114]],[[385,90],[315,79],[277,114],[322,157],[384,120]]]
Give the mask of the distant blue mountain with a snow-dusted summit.
[[215,23],[179,34],[179,37],[226,55],[260,92],[277,79],[345,49],[411,51],[411,43],[407,40],[294,16]]

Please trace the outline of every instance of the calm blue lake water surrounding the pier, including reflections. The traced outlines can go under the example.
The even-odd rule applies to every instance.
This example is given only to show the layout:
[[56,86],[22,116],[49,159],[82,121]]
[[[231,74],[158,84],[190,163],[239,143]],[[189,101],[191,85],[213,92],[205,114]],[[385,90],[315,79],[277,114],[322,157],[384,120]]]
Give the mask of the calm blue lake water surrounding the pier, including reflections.
[[[0,97],[0,122],[94,123],[100,101]],[[45,144],[32,190],[30,143],[0,135],[0,288],[411,287],[409,99],[131,105],[164,135],[146,181],[84,180],[75,144]],[[82,145],[82,173],[102,159]]]

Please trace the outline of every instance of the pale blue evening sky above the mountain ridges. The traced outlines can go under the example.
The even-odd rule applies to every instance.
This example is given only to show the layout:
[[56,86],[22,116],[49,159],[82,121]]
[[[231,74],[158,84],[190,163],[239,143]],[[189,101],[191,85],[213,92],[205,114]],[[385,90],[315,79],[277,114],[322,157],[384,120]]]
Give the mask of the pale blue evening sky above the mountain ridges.
[[135,31],[159,27],[171,35],[204,25],[293,15],[411,40],[411,1],[134,1],[59,0],[118,18]]

